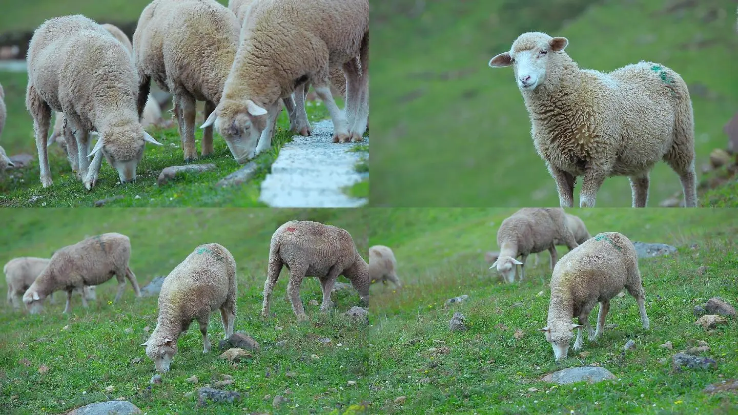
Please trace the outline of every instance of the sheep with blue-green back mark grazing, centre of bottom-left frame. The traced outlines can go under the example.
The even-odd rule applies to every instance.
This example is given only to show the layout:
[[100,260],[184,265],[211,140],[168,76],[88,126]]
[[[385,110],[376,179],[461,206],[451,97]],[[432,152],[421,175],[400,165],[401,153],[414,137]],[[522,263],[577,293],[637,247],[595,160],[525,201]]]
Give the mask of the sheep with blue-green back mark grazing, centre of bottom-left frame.
[[156,371],[169,371],[177,353],[177,339],[193,320],[202,333],[203,354],[210,351],[207,323],[210,313],[221,311],[225,340],[235,322],[235,260],[220,244],[202,244],[167,275],[159,292],[159,318],[145,346]]

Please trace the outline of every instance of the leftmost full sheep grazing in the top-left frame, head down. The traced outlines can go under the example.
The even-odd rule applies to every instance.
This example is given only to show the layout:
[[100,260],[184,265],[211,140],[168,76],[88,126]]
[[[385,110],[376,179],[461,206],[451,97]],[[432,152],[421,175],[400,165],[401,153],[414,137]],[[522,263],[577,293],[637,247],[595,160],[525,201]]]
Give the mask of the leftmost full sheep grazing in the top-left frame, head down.
[[[51,18],[35,30],[28,49],[26,107],[33,117],[44,188],[52,185],[46,152],[52,110],[63,112],[71,124],[64,128],[66,145],[86,189],[97,182],[103,156],[120,182],[135,181],[145,142],[161,145],[139,123],[135,89],[128,51],[91,19]],[[100,132],[92,152],[89,131]]]

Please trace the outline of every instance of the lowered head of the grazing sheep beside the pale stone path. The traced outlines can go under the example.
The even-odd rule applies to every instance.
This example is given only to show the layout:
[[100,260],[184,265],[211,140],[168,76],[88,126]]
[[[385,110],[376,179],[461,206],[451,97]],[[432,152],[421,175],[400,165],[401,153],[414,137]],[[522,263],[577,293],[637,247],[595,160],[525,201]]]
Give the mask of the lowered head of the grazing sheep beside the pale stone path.
[[266,128],[266,109],[252,100],[215,107],[200,128],[215,126],[226,140],[233,158],[244,164],[255,156],[261,132]]

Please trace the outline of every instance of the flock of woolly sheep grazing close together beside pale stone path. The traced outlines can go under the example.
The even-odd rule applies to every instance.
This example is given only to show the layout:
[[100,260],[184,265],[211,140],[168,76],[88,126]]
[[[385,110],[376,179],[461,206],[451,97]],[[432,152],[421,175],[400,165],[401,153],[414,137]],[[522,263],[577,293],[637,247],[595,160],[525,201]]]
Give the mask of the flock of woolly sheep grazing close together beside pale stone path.
[[[201,156],[213,154],[214,127],[243,164],[271,148],[281,103],[292,130],[311,135],[310,86],[331,115],[334,143],[361,141],[369,115],[368,31],[368,0],[231,0],[228,7],[154,0],[132,44],[110,24],[81,15],[51,18],[33,33],[27,56],[26,106],[41,184],[52,185],[47,147],[56,142],[85,188],[95,185],[103,157],[120,182],[133,182],[145,143],[161,145],[144,129],[161,117],[149,94],[152,79],[173,95],[185,161],[198,157],[197,100],[205,103]],[[331,84],[345,95],[344,111]],[[0,155],[12,165],[1,148]]]

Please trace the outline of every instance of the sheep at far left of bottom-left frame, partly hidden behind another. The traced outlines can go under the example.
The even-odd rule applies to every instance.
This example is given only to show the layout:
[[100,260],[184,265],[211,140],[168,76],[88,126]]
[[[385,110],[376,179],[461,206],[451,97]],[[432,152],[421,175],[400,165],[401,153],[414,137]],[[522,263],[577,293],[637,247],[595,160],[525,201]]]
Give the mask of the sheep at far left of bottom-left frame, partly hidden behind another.
[[[33,284],[36,277],[49,264],[49,258],[37,258],[35,256],[23,256],[13,258],[5,264],[3,272],[7,283],[7,302],[18,309],[21,306],[23,293]],[[93,301],[96,297],[95,287],[84,286],[82,289],[75,287],[73,292],[83,295],[87,301]],[[49,300],[54,303],[54,295],[49,295]]]

